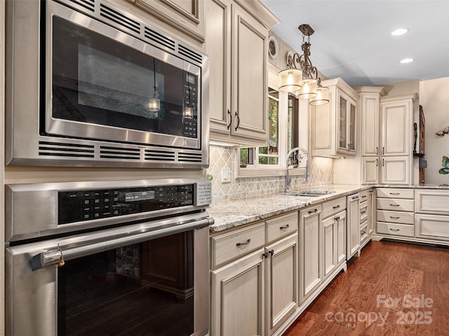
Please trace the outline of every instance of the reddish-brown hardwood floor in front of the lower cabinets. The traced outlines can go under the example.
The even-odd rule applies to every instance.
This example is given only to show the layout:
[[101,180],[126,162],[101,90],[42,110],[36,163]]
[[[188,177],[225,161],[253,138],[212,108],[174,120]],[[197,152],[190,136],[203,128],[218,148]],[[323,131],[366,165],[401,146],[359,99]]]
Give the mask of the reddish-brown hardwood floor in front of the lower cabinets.
[[449,335],[449,248],[372,241],[283,336]]

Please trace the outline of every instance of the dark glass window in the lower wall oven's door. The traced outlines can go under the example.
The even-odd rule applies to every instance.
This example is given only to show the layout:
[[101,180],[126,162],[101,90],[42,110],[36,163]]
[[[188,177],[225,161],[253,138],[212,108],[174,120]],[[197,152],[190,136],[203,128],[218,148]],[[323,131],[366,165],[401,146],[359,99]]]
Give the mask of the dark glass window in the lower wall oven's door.
[[192,335],[193,271],[192,231],[65,262],[58,335]]

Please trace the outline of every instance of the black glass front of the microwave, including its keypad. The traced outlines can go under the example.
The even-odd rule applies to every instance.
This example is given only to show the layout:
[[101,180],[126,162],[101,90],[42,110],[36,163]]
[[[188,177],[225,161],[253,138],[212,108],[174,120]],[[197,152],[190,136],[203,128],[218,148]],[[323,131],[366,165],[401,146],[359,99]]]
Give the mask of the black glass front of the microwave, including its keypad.
[[[105,29],[99,34],[53,15],[51,119],[74,122],[74,134],[93,139],[98,132],[86,131],[89,125],[106,127],[105,134],[122,129],[196,139],[199,76],[185,71],[182,59]],[[114,34],[119,37],[107,36]],[[149,55],[152,50],[171,63]],[[47,125],[46,132],[60,131]]]

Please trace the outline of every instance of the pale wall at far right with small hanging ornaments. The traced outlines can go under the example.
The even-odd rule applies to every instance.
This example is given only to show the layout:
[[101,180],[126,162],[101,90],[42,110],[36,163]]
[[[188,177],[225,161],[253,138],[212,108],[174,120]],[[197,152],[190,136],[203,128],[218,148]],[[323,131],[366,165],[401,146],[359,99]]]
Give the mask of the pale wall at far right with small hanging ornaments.
[[426,184],[449,184],[449,174],[439,174],[443,156],[449,158],[449,135],[435,133],[449,126],[449,77],[420,82],[420,105],[426,118]]

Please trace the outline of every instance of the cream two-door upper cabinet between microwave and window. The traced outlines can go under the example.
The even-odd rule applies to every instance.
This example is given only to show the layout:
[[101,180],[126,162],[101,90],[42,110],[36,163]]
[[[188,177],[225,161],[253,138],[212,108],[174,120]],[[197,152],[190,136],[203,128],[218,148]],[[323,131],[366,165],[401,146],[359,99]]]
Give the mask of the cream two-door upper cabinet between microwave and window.
[[210,139],[265,146],[268,30],[277,20],[258,1],[241,5],[251,8],[228,0],[206,1]]

